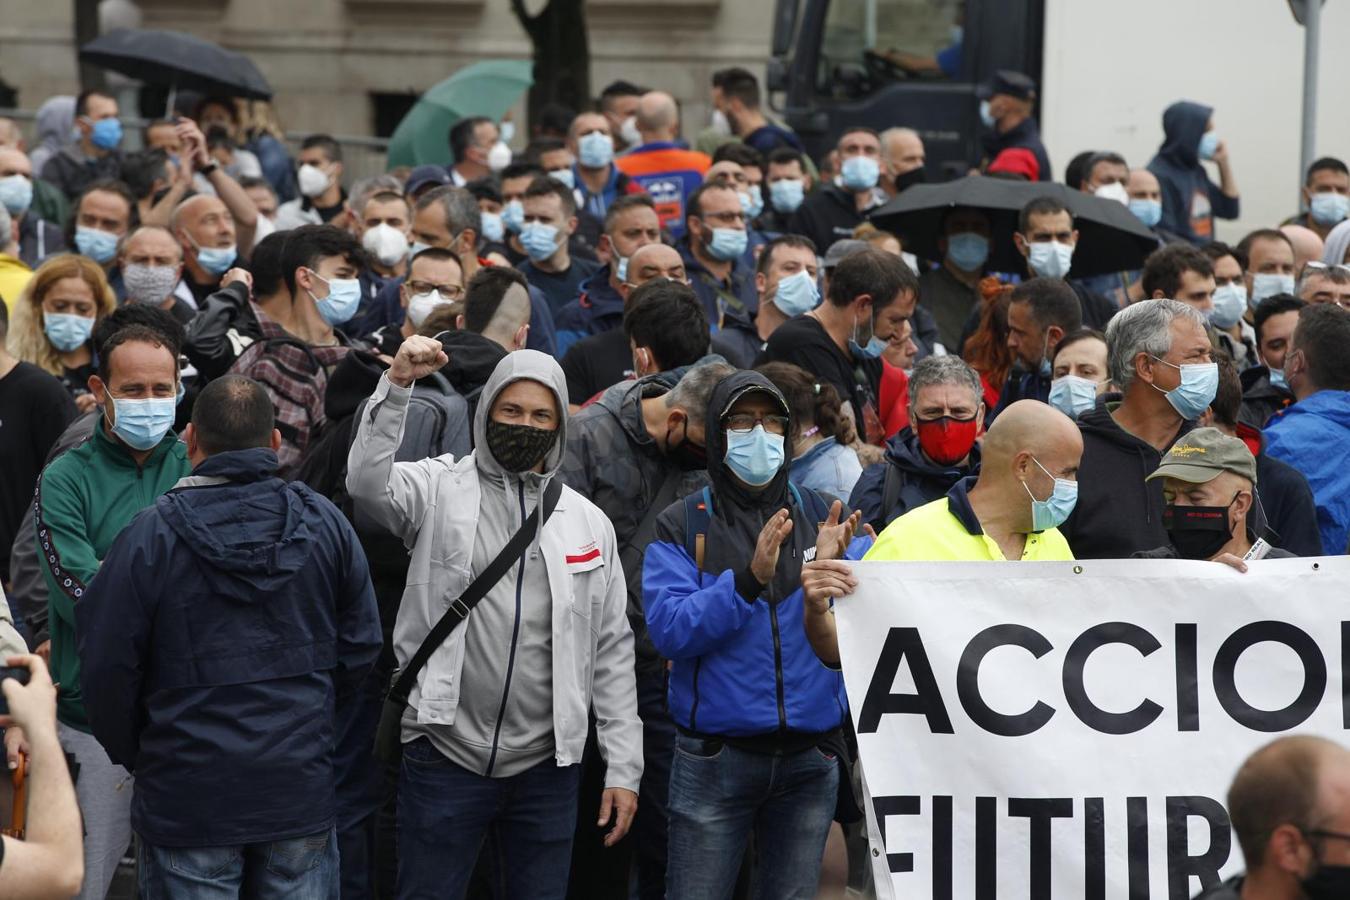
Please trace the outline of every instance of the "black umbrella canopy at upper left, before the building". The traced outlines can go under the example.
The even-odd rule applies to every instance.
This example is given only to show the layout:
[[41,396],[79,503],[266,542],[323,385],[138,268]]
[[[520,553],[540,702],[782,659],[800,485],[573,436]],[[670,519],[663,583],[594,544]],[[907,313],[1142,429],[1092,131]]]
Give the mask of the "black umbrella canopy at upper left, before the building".
[[271,100],[271,85],[248,57],[181,31],[117,28],[80,47],[80,59],[174,90]]

